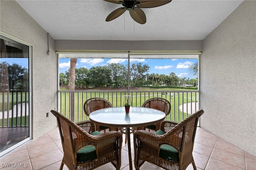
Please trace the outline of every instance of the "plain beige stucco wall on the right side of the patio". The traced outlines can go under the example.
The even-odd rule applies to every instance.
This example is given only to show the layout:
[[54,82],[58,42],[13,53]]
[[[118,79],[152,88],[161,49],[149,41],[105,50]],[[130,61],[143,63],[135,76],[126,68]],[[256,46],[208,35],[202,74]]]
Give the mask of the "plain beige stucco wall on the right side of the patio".
[[201,127],[256,155],[256,1],[203,40]]

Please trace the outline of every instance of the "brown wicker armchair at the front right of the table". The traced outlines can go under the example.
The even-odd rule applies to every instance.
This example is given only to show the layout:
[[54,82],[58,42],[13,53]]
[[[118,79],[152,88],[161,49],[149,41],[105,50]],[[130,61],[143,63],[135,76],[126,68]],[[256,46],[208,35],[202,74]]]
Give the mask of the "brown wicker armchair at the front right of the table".
[[166,170],[185,170],[192,163],[196,127],[203,110],[197,111],[181,123],[163,121],[155,133],[134,132],[134,164],[136,170],[147,161]]

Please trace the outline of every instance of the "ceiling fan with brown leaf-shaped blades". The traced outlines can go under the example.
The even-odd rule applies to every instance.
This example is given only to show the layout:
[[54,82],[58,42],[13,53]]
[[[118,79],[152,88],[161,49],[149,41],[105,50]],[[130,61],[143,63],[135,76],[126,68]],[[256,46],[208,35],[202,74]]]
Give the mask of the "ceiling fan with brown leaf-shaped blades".
[[104,0],[115,4],[122,4],[124,7],[111,12],[106,21],[112,21],[122,15],[126,10],[130,12],[132,19],[140,24],[146,23],[146,15],[140,8],[154,8],[168,4],[172,0]]

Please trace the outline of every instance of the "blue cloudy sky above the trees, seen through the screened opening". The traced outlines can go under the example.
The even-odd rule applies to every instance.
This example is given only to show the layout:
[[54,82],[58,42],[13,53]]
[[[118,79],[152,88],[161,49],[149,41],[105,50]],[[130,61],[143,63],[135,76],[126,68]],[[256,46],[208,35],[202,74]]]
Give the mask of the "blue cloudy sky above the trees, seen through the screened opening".
[[[130,65],[132,63],[147,64],[150,67],[149,74],[158,73],[169,75],[174,72],[179,78],[194,79],[188,70],[188,67],[195,63],[197,59],[130,59]],[[126,65],[128,59],[123,58],[78,58],[76,68],[85,67],[90,69],[91,67],[104,66],[109,63],[121,63]],[[59,71],[65,73],[70,68],[70,58],[60,58]]]

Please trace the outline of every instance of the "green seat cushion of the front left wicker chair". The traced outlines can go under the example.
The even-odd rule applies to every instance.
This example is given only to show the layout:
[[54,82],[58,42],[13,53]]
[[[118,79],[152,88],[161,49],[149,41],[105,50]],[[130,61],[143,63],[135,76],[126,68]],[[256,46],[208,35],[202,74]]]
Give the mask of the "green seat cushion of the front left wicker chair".
[[[99,131],[94,131],[90,134],[95,136],[101,133]],[[97,154],[93,145],[84,146],[76,152],[76,160],[78,163],[87,162],[95,158],[97,158]]]

